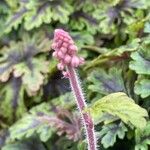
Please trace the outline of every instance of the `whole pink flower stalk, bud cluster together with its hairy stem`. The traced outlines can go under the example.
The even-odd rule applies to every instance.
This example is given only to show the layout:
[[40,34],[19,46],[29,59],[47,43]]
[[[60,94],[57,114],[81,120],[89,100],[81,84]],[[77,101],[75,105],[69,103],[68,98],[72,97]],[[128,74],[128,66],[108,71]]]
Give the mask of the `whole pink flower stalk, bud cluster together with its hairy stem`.
[[70,35],[62,29],[55,30],[52,48],[55,50],[53,56],[59,60],[57,68],[70,80],[71,88],[85,129],[88,150],[96,150],[97,147],[93,120],[87,112],[83,112],[87,105],[79,77],[75,71],[76,67],[84,63],[84,59],[77,56],[77,47],[75,46],[74,41]]

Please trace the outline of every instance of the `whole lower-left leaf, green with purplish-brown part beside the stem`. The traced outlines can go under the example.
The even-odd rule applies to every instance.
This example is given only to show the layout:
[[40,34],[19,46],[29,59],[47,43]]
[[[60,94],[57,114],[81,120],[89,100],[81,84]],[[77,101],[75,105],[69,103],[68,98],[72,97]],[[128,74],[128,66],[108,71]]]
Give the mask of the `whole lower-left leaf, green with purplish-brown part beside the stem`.
[[[69,121],[65,121],[65,118]],[[10,140],[38,135],[41,141],[46,142],[56,132],[59,136],[66,134],[68,139],[77,141],[81,137],[80,128],[80,118],[76,114],[42,103],[33,107],[29,114],[10,128]]]

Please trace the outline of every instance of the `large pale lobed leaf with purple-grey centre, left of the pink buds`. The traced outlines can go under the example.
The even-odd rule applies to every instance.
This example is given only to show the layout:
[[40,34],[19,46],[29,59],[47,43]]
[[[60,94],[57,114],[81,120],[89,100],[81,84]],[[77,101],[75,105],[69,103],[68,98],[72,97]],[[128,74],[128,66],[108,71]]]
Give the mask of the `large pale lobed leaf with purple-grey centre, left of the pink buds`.
[[0,80],[6,82],[13,73],[13,76],[22,78],[28,94],[35,95],[49,71],[46,56],[39,54],[48,51],[49,46],[50,41],[43,32],[32,38],[25,34],[21,42],[10,42],[0,52]]

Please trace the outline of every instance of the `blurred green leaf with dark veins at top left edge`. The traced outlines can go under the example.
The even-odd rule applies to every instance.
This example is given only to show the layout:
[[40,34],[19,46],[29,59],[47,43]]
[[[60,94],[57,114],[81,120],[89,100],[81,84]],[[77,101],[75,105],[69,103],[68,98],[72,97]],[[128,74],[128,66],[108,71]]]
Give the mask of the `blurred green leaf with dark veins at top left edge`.
[[13,27],[17,29],[20,23],[24,24],[27,30],[37,28],[43,23],[50,23],[52,20],[67,23],[72,12],[72,6],[62,3],[61,0],[27,0],[20,1],[19,4],[18,10],[12,12],[6,23],[6,32],[11,31]]

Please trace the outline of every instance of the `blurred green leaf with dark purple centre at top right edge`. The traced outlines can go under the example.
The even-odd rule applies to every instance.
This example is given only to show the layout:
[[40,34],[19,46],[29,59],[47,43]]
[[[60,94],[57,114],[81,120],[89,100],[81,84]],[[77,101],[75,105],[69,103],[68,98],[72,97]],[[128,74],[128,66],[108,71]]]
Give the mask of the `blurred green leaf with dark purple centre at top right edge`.
[[[125,31],[128,25],[144,18],[144,14],[141,14],[146,8],[147,4],[143,0],[101,1],[93,16],[99,20],[99,30],[102,33],[116,35],[121,30]],[[139,9],[141,12],[137,13]]]

